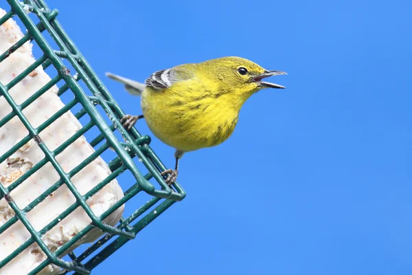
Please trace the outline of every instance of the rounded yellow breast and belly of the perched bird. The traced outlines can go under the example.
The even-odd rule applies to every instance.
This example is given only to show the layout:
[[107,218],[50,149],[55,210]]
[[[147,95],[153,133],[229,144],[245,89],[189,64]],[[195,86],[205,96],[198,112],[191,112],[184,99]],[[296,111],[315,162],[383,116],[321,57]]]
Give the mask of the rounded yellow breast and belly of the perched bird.
[[214,83],[196,78],[159,91],[147,87],[141,108],[150,130],[179,151],[216,146],[233,133],[241,106]]

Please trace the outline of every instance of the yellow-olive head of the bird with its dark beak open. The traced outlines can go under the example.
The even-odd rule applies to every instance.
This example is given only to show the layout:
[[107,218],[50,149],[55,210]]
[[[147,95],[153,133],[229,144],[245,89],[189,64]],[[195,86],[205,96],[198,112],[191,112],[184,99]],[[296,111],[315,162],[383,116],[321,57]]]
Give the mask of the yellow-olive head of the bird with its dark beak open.
[[264,78],[286,74],[285,72],[264,69],[244,58],[216,58],[204,62],[203,66],[220,85],[242,96],[249,97],[264,88],[285,89],[284,86],[263,81]]

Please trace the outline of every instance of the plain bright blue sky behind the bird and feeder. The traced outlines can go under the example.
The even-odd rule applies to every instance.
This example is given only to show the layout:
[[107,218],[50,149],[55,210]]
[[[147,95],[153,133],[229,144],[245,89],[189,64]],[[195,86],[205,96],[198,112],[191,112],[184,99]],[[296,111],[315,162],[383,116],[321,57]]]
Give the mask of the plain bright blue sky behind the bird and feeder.
[[104,72],[220,56],[288,72],[227,142],[183,157],[187,197],[95,274],[411,274],[409,1],[48,3],[126,113],[139,99]]

